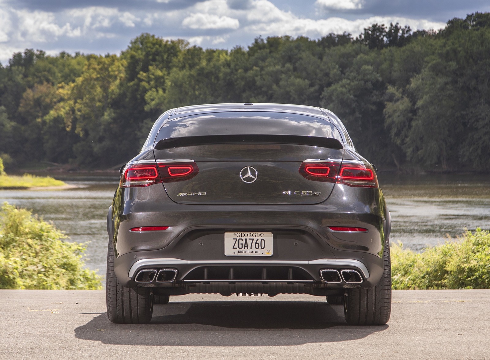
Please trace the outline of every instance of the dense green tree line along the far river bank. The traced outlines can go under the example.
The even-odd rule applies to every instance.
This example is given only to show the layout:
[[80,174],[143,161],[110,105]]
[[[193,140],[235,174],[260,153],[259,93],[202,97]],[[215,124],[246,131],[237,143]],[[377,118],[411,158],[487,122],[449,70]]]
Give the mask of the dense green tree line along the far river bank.
[[151,34],[121,55],[26,49],[0,64],[0,157],[109,167],[163,111],[199,103],[326,107],[378,168],[490,170],[490,13],[440,30],[258,37],[202,49]]

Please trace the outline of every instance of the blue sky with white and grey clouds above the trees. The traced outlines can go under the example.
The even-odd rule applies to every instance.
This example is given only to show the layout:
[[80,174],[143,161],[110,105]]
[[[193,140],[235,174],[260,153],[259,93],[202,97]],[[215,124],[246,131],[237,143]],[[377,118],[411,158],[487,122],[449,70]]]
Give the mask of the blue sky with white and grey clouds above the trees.
[[143,32],[231,50],[258,36],[355,37],[374,23],[438,30],[476,11],[490,11],[490,1],[0,0],[0,62],[25,49],[119,54]]

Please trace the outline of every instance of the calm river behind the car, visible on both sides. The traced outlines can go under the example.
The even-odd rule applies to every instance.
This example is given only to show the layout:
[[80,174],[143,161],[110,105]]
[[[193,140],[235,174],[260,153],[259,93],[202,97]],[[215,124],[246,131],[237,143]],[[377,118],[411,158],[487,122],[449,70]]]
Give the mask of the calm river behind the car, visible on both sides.
[[[56,176],[55,176],[56,177]],[[31,209],[70,236],[89,242],[85,263],[105,275],[106,216],[118,179],[56,177],[79,187],[69,190],[0,190],[4,201]],[[420,251],[456,237],[465,228],[490,229],[487,175],[386,175],[379,181],[392,214],[392,242]]]

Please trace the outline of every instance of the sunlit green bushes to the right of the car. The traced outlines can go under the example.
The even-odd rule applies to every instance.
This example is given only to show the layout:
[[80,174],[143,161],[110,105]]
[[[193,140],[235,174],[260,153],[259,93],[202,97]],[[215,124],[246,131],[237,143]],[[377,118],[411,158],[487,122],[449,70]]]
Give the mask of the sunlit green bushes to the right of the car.
[[490,288],[490,233],[476,229],[417,254],[394,244],[393,289]]

